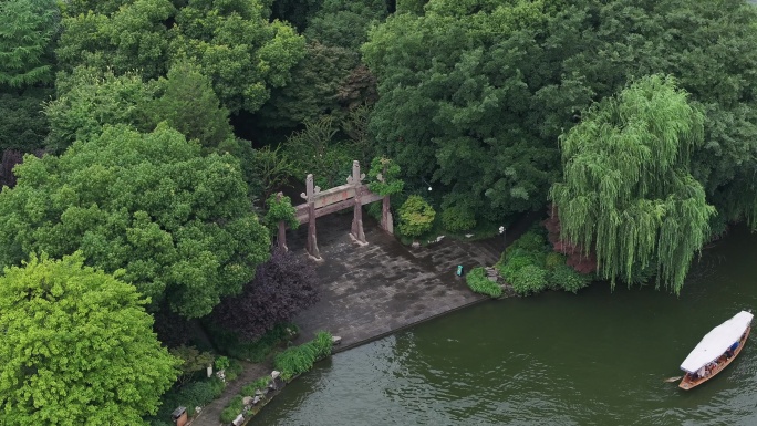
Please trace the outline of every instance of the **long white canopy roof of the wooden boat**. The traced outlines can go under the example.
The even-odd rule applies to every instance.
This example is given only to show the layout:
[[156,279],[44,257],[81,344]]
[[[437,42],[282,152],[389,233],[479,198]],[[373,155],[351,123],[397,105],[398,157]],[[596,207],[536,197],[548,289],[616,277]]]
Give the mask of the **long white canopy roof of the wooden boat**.
[[694,373],[707,363],[717,360],[728,347],[742,339],[742,334],[751,323],[753,316],[751,313],[742,311],[713,329],[686,356],[686,360],[681,364],[681,370]]

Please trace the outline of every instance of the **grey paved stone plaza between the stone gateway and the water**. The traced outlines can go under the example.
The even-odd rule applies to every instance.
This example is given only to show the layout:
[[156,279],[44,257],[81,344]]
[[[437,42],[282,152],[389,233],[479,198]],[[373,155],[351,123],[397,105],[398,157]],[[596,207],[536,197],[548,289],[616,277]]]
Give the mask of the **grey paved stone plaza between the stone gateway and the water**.
[[[443,239],[408,248],[365,218],[369,243],[361,246],[349,235],[351,220],[351,214],[318,219],[321,300],[294,320],[301,328],[295,343],[328,330],[342,337],[335,347],[342,351],[486,299],[471,292],[455,271],[458,264],[465,271],[494,264],[502,249],[495,241]],[[301,226],[288,235],[290,249],[302,256],[305,233],[307,226]]]

